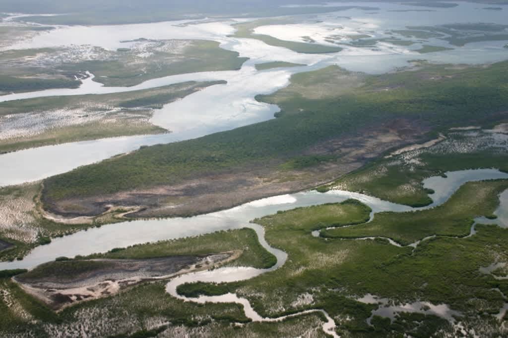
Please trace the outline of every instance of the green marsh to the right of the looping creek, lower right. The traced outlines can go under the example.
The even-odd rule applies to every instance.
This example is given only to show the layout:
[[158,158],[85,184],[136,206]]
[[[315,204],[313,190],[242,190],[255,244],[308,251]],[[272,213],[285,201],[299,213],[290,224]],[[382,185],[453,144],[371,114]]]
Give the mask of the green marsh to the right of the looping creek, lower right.
[[[379,236],[426,236],[447,233],[450,222],[457,219],[458,223],[463,219],[464,229],[468,229],[470,222],[466,218],[492,212],[498,203],[497,193],[507,186],[506,180],[468,183],[449,203],[436,210],[390,214],[391,221],[382,224],[377,219],[384,219],[385,214],[376,214],[372,228],[379,229]],[[476,201],[471,201],[473,194]],[[451,309],[462,312],[465,317],[461,321],[466,325],[476,320],[486,327],[499,325],[492,315],[499,312],[505,301],[493,288],[508,291],[508,281],[494,280],[492,276],[481,274],[479,269],[507,258],[506,230],[477,226],[478,233],[472,237],[438,237],[422,242],[416,249],[399,248],[384,240],[313,238],[310,235],[313,229],[347,224],[355,220],[358,212],[327,210],[332,207],[341,205],[300,208],[256,220],[265,227],[267,241],[289,255],[280,269],[244,282],[186,284],[179,289],[193,296],[236,292],[247,297],[255,310],[265,316],[280,315],[281,310],[274,309],[284,309],[283,313],[325,309],[331,316],[349,318],[339,320],[338,330],[344,334],[375,336],[381,332],[397,332],[423,337],[436,334],[440,329],[451,329],[447,321],[423,314],[400,314],[392,323],[374,317],[373,326],[368,326],[365,320],[370,316],[370,309],[377,305],[360,304],[345,297],[367,293],[390,298],[395,304],[415,301],[448,304]],[[371,223],[339,230],[359,229],[359,236],[371,236],[373,233],[368,231]],[[398,226],[398,223],[406,226]],[[427,231],[422,232],[422,229]],[[413,237],[411,240],[417,238]],[[312,295],[312,302],[297,302],[302,294]],[[480,318],[476,319],[479,314]]]

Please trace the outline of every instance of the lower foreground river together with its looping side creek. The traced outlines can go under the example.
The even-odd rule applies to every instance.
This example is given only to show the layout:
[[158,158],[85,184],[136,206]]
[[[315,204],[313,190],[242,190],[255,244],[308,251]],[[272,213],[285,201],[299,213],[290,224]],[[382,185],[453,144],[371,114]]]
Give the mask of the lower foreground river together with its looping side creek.
[[[176,277],[167,284],[166,290],[172,296],[184,301],[197,302],[197,303],[238,303],[244,308],[245,315],[252,321],[280,321],[288,317],[299,316],[308,313],[322,313],[327,321],[323,324],[323,330],[335,337],[335,322],[323,310],[309,310],[303,311],[290,316],[279,318],[263,318],[253,308],[245,298],[240,298],[236,294],[228,293],[220,296],[200,296],[199,298],[187,298],[177,293],[178,285],[190,282],[233,282],[248,280],[253,277],[262,275],[267,272],[274,271],[284,265],[288,255],[276,248],[271,247],[266,239],[263,227],[258,224],[250,223],[249,221],[276,213],[279,210],[290,210],[297,207],[305,207],[324,203],[337,203],[346,199],[357,199],[372,208],[371,219],[377,212],[393,211],[393,212],[407,212],[417,211],[432,208],[446,202],[453,193],[465,182],[480,181],[487,179],[508,179],[508,174],[500,172],[495,169],[480,169],[480,170],[462,170],[455,172],[447,172],[446,177],[436,176],[424,180],[424,186],[435,191],[432,197],[436,197],[434,203],[423,208],[411,208],[404,205],[399,205],[387,201],[377,199],[375,197],[352,193],[346,191],[330,191],[322,194],[315,191],[302,192],[291,195],[282,195],[270,197],[258,201],[246,203],[244,205],[214,212],[205,215],[199,215],[189,218],[170,218],[170,219],[153,219],[153,220],[136,220],[131,222],[122,222],[116,224],[109,224],[101,228],[93,228],[88,231],[81,231],[74,235],[64,238],[54,239],[51,244],[39,246],[30,252],[25,259],[21,261],[1,262],[0,270],[4,269],[20,269],[20,268],[33,268],[39,264],[47,261],[54,260],[58,256],[73,257],[75,255],[87,255],[93,252],[105,252],[115,247],[125,247],[134,244],[141,244],[146,242],[154,242],[159,240],[177,239],[188,236],[199,236],[220,230],[232,230],[241,228],[250,228],[256,231],[261,245],[270,253],[274,254],[277,258],[277,263],[269,269],[256,269],[250,267],[226,267],[218,268],[209,271],[188,273]],[[500,195],[500,206],[495,211],[498,219],[490,221],[490,223],[498,224],[501,227],[508,227],[506,222],[506,214],[508,212],[508,191]],[[477,219],[481,221],[482,219]],[[481,221],[483,222],[483,221]],[[474,227],[471,228],[471,235],[473,235]],[[316,235],[315,233],[313,234]],[[364,240],[367,238],[359,238],[356,240]],[[390,239],[390,243],[400,246],[398,243]],[[410,246],[418,245],[419,242],[411,244]],[[364,301],[369,301],[368,299]],[[459,315],[458,313],[450,310],[446,305],[431,305],[428,303],[415,303],[403,306],[383,306],[383,299],[381,299],[380,306],[375,310],[372,315],[387,315],[393,316],[398,311],[412,311],[419,312],[425,307],[428,313],[436,314],[448,320],[453,319],[452,315]],[[376,303],[379,303],[376,302]],[[387,303],[387,302],[385,302]],[[508,308],[508,304],[505,305]],[[430,309],[430,310],[429,310]],[[426,313],[426,312],[423,313]],[[500,313],[504,313],[503,309]]]

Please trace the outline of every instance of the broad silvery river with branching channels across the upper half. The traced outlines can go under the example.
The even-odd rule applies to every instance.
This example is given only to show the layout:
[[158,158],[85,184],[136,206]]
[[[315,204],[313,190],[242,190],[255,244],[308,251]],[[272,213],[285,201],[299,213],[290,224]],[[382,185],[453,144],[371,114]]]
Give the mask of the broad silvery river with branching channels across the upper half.
[[[344,6],[355,4],[343,4]],[[431,25],[455,23],[456,20],[473,22],[505,23],[504,11],[482,11],[477,4],[459,3],[453,9],[433,8],[432,12],[421,15],[411,12],[414,6],[397,4],[376,4],[376,13],[361,9],[350,9],[319,15],[303,15],[296,20],[303,22],[294,29],[274,29],[265,26],[262,32],[273,35],[285,34],[284,39],[295,40],[293,31],[323,40],[330,29],[346,33],[368,33],[374,38],[381,37],[389,29],[404,29],[406,25]],[[508,6],[501,6],[508,9]],[[404,12],[400,15],[397,11]],[[451,16],[450,13],[458,13]],[[474,19],[474,20],[473,20]],[[473,21],[471,21],[473,20]],[[106,50],[129,48],[135,39],[203,39],[220,43],[220,47],[247,57],[240,70],[187,73],[146,81],[133,87],[105,87],[94,82],[92,77],[83,80],[77,89],[52,89],[38,92],[0,96],[0,102],[34,97],[59,95],[120,93],[140,89],[156,88],[185,81],[226,80],[228,84],[212,86],[165,105],[157,110],[151,119],[155,125],[171,131],[164,135],[140,135],[106,138],[93,141],[73,142],[54,146],[43,146],[11,154],[0,155],[0,186],[35,181],[76,167],[98,162],[114,155],[131,152],[141,145],[170,143],[197,138],[211,133],[230,130],[240,126],[273,119],[278,111],[275,105],[255,100],[258,94],[272,93],[289,84],[292,74],[319,69],[330,64],[370,74],[384,73],[397,67],[407,66],[408,60],[422,56],[404,46],[378,44],[376,48],[342,46],[339,53],[302,54],[286,48],[269,46],[259,40],[241,39],[231,36],[232,24],[244,19],[227,19],[217,22],[188,24],[188,20],[146,24],[110,26],[58,26],[49,32],[34,36],[8,46],[8,49],[54,48],[68,46],[98,46]],[[288,35],[289,34],[289,35]],[[323,36],[321,36],[322,34]],[[326,34],[325,34],[326,35]],[[434,43],[434,41],[432,42]],[[437,44],[437,42],[435,42]],[[442,43],[441,43],[442,44]],[[504,42],[481,42],[467,44],[450,51],[425,54],[432,62],[447,63],[488,63],[501,61],[508,56],[508,50],[500,48]],[[288,61],[306,64],[295,68],[278,68],[257,71],[257,63]]]

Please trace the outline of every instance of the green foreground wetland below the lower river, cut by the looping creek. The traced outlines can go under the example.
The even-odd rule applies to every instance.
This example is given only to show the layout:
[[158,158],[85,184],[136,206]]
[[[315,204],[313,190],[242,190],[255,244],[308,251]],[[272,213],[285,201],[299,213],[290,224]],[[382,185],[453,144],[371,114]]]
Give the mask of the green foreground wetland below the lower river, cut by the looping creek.
[[[478,224],[477,233],[470,237],[463,237],[465,231],[462,230],[470,228],[472,217],[491,214],[499,203],[499,192],[507,186],[506,180],[467,183],[442,206],[393,214],[392,221],[386,218],[387,213],[377,213],[372,222],[365,223],[371,210],[356,200],[297,208],[255,219],[253,222],[265,228],[268,243],[287,252],[288,260],[281,268],[242,282],[183,284],[178,290],[191,297],[235,292],[246,297],[253,308],[266,317],[323,309],[336,322],[337,333],[343,336],[410,334],[424,337],[460,335],[461,330],[481,336],[503,335],[500,324],[504,319],[498,320],[496,315],[506,302],[504,294],[508,292],[508,284],[482,269],[508,259],[505,254],[508,235],[505,229],[493,225]],[[473,201],[471,191],[476,194]],[[404,219],[407,225],[398,226]],[[447,219],[456,225],[435,226],[447,226]],[[369,230],[369,224],[379,231]],[[338,228],[325,230],[329,227]],[[320,237],[311,234],[316,230],[322,231]],[[429,234],[438,236],[416,247],[398,247],[382,238],[360,240],[328,236],[331,232],[349,230],[357,231],[355,237],[382,236],[400,242],[406,239],[404,243],[421,240]],[[229,263],[233,266],[266,268],[274,264],[273,258],[259,245],[255,233],[242,229],[54,262],[26,276],[51,276],[51,269],[57,269],[59,264],[69,264],[73,267],[69,271],[75,276],[76,269],[80,273],[90,269],[87,260],[90,258],[146,259],[225,250],[242,251],[238,260]],[[404,278],[394,279],[393,276]],[[23,274],[19,276],[22,278]],[[72,335],[76,327],[83,328],[91,336],[112,334],[108,332],[125,336],[141,334],[137,332],[146,336],[171,336],[176,332],[190,335],[221,332],[221,336],[323,334],[320,315],[302,315],[277,323],[249,322],[240,305],[182,302],[171,298],[164,285],[157,281],[140,284],[57,314],[24,293],[19,296],[19,302],[23,302],[20,307],[9,303],[8,297],[0,304],[6,307],[8,319],[21,323],[24,330],[39,332],[40,336],[50,336],[56,331]],[[4,280],[2,290],[4,295],[22,292],[9,280]],[[369,295],[373,302],[364,300],[369,299]],[[392,319],[377,315],[379,309],[388,305],[395,307]],[[400,306],[404,307],[398,308]],[[448,310],[443,312],[434,307]],[[446,317],[448,313],[450,317]],[[46,322],[41,325],[43,318]],[[92,327],[91,323],[96,324]],[[3,329],[8,335],[17,330],[10,324]]]

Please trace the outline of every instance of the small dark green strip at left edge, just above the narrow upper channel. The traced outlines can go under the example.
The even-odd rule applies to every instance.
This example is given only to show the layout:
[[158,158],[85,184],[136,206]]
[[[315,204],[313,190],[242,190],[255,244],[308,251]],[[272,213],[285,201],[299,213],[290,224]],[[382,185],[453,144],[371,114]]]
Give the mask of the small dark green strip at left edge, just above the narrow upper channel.
[[0,92],[33,92],[53,88],[78,88],[80,81],[70,79],[15,78],[0,75]]

